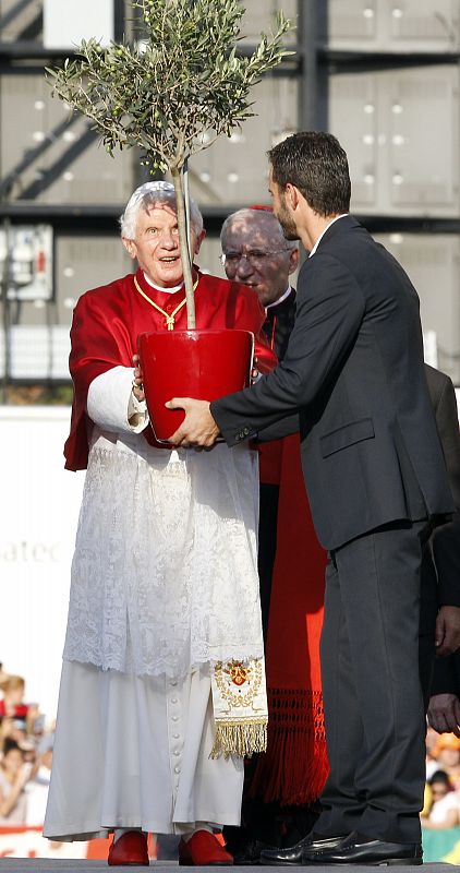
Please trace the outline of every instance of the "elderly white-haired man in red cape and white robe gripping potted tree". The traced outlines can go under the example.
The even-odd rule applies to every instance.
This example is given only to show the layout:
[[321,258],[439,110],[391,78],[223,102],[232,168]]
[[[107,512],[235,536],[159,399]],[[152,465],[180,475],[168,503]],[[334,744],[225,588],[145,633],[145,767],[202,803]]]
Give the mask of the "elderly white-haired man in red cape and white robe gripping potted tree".
[[[193,201],[191,227],[196,255]],[[148,832],[180,835],[180,863],[232,863],[216,833],[240,821],[243,758],[219,749],[216,720],[250,684],[244,739],[264,744],[257,462],[246,446],[155,441],[133,356],[140,333],[186,328],[173,187],[141,186],[121,235],[137,271],[84,294],[71,331],[66,467],[87,474],[44,833],[113,833],[111,865],[147,865]],[[197,327],[252,331],[270,366],[257,295],[193,274]]]

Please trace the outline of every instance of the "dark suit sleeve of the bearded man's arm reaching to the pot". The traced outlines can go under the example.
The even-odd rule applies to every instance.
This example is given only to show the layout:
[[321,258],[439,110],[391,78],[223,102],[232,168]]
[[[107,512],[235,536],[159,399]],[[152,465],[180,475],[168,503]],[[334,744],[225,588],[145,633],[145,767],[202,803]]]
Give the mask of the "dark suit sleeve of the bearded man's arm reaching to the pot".
[[210,405],[226,442],[234,445],[299,414],[334,384],[355,342],[364,309],[354,276],[339,261],[319,253],[306,261],[299,276],[295,324],[285,359],[251,388]]

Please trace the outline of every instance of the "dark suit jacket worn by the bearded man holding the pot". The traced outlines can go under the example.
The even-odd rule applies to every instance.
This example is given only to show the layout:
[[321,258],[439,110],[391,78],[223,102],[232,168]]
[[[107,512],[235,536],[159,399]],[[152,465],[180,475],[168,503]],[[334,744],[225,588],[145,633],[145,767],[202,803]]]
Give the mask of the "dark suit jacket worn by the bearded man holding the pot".
[[352,216],[326,230],[301,270],[283,361],[210,408],[229,445],[300,429],[326,549],[396,519],[453,510],[423,368],[419,298]]

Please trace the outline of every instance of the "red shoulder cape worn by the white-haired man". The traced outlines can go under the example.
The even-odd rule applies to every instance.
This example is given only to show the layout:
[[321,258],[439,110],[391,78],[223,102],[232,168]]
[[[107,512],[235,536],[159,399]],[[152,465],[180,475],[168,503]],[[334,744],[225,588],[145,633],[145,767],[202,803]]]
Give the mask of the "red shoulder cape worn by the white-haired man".
[[[183,288],[173,295],[154,289],[142,270],[137,270],[136,279],[143,291],[165,310],[172,311],[183,299]],[[234,282],[199,274],[195,306],[197,327],[251,331],[256,338],[258,369],[268,372],[275,366],[276,359],[261,334],[265,310],[255,291]],[[86,402],[93,380],[112,367],[132,367],[138,334],[162,330],[167,330],[165,316],[138,294],[131,273],[86,291],[80,298],[71,328],[70,372],[74,400],[71,431],[64,446],[66,469],[87,466],[88,427],[92,424],[86,416]],[[177,315],[175,330],[186,330],[185,307]]]

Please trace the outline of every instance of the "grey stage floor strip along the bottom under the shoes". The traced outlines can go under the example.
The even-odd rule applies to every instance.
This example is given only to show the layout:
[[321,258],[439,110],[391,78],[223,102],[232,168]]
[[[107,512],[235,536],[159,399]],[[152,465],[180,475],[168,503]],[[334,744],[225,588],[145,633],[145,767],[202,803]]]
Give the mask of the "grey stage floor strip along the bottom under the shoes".
[[[175,862],[165,862],[165,861],[154,861],[150,862],[150,869],[155,870],[155,873],[171,873],[171,866],[178,866]],[[350,869],[350,865],[340,865],[346,866],[346,869]],[[427,862],[423,864],[423,866],[405,866],[405,865],[395,865],[391,866],[391,873],[420,873],[423,868],[428,870],[429,873],[449,873],[452,866],[456,864],[445,864],[445,863],[432,863]],[[360,871],[360,873],[375,873],[376,868],[370,866],[366,864],[354,864],[355,870]],[[110,868],[111,870],[124,870],[125,868]],[[144,873],[145,866],[130,866],[130,873]],[[261,870],[275,870],[275,868],[261,868]],[[109,870],[107,865],[107,861],[85,861],[83,860],[74,860],[74,859],[49,859],[49,858],[0,858],[0,873],[95,873],[95,871],[100,870]],[[206,870],[208,871],[209,868],[202,866],[197,868],[197,870]],[[249,870],[247,866],[219,866],[219,873],[231,873],[231,871]],[[276,870],[283,870],[286,873],[286,866],[278,866]],[[329,866],[316,866],[316,873],[337,873],[338,866],[337,865],[329,865]]]

